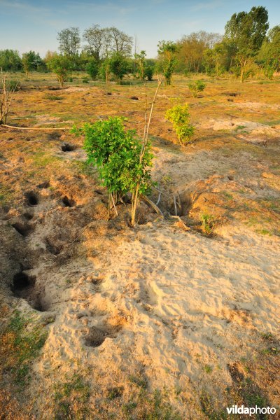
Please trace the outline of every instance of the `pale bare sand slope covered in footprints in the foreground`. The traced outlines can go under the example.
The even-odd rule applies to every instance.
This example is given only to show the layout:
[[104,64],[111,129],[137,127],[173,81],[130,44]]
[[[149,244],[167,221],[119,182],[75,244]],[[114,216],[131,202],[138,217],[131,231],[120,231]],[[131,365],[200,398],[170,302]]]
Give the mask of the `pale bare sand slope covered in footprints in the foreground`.
[[[254,333],[277,334],[280,244],[238,227],[221,235],[148,224],[99,265],[76,260],[45,274],[56,319],[39,376],[53,380],[79,360],[104,387],[141,372],[154,388],[190,391],[207,387],[209,365],[216,383],[230,384],[227,365],[248,356]],[[79,280],[65,287],[75,269]]]

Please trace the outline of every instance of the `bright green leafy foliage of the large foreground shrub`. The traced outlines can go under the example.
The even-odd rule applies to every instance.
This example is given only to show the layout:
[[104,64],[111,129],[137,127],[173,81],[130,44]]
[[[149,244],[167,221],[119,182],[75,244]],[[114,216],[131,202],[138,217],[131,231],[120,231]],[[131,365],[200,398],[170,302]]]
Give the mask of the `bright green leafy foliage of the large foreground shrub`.
[[99,179],[109,192],[109,207],[115,205],[125,193],[145,194],[152,186],[151,162],[153,155],[148,144],[143,160],[139,160],[142,142],[135,130],[125,131],[123,118],[110,117],[108,120],[86,123],[73,132],[85,135],[84,148],[87,162],[95,165]]

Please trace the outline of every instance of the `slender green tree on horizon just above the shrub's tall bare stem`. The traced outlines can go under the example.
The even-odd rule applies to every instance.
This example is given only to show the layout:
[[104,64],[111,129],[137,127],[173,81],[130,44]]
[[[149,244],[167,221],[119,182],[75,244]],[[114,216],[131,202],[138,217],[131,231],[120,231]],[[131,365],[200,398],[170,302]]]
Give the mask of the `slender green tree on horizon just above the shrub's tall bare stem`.
[[160,41],[158,43],[159,67],[165,76],[165,83],[171,85],[172,74],[176,66],[178,47],[173,41]]

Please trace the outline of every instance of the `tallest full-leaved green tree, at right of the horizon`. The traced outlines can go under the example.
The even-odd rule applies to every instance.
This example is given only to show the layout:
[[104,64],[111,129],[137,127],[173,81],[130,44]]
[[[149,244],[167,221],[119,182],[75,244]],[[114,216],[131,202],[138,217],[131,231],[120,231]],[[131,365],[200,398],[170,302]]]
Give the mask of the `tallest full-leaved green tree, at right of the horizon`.
[[251,8],[250,12],[232,15],[225,25],[225,40],[235,44],[235,59],[240,69],[240,80],[244,81],[246,68],[258,54],[269,27],[267,9],[262,6]]

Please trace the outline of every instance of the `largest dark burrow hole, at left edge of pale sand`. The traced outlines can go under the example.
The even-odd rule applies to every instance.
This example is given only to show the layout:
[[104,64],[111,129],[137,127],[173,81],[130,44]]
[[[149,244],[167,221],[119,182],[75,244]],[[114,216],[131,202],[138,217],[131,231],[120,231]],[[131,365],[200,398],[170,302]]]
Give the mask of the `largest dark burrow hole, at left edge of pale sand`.
[[29,275],[25,271],[20,271],[13,276],[13,282],[10,285],[15,297],[27,300],[29,305],[37,311],[45,311],[46,307],[41,300],[41,295],[35,288],[36,276]]

